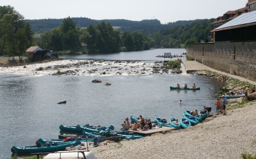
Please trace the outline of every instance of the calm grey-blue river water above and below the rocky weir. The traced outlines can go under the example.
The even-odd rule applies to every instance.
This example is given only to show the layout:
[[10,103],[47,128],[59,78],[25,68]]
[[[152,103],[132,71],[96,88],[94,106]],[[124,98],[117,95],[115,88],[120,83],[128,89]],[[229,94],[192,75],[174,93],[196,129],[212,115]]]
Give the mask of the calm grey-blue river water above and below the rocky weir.
[[[185,52],[184,49],[156,49],[136,54],[121,52],[69,58],[156,60],[155,55],[170,50]],[[91,83],[95,78],[112,85]],[[189,86],[196,83],[201,90],[170,91],[169,87],[177,83]],[[17,76],[0,73],[0,158],[10,158],[13,145],[32,145],[39,138],[57,139],[61,124],[114,125],[119,129],[125,117],[131,115],[143,115],[151,120],[155,115],[165,119],[174,115],[180,119],[184,108],[200,110],[203,105],[214,105],[213,97],[220,87],[221,83],[211,78],[186,73],[131,76]],[[56,104],[62,99],[67,103]],[[179,100],[183,104],[177,104]]]

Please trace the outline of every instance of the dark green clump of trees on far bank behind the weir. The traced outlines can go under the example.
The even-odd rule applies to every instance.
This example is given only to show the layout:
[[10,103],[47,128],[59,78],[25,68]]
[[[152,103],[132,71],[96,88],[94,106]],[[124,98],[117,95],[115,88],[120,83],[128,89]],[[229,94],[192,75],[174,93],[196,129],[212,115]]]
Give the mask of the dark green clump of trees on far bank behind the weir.
[[53,51],[72,50],[83,53],[111,53],[119,51],[149,50],[154,41],[141,32],[119,32],[109,23],[101,22],[96,26],[77,28],[72,18],[67,17],[61,26],[45,31],[40,35],[37,44]]

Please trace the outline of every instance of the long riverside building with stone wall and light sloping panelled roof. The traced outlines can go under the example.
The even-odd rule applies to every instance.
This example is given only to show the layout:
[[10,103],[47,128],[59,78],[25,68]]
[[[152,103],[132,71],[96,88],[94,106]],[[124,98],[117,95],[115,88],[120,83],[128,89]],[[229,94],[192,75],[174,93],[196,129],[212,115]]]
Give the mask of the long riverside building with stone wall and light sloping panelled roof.
[[214,42],[187,44],[187,56],[216,70],[256,81],[256,11],[243,13],[211,33]]

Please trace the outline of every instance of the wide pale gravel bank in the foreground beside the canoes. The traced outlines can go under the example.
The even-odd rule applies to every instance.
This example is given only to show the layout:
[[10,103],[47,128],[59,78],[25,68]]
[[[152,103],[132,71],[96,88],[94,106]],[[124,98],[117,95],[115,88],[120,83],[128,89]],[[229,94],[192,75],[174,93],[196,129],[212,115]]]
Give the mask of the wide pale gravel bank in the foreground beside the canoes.
[[241,153],[256,154],[255,107],[256,102],[188,129],[90,150],[98,159],[240,159]]

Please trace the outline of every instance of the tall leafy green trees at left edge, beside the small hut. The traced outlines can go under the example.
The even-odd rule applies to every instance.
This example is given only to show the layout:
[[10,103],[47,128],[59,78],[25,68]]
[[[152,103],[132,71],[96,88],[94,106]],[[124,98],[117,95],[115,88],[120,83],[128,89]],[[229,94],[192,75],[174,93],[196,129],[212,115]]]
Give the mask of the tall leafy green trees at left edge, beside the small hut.
[[26,49],[34,42],[34,33],[24,17],[11,6],[0,6],[0,55],[22,60]]

